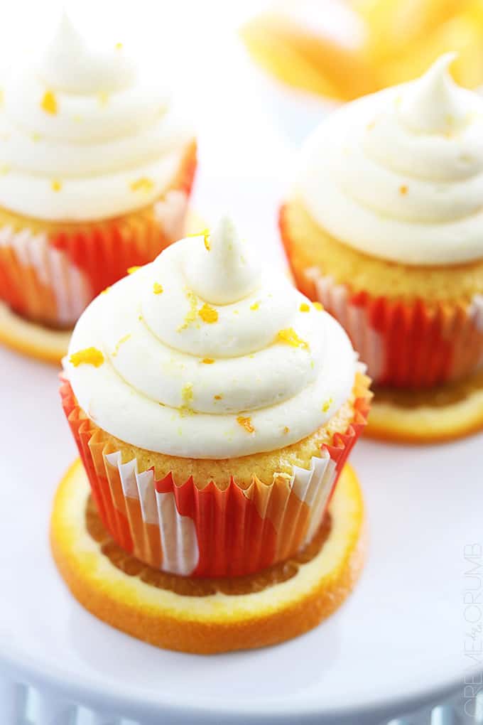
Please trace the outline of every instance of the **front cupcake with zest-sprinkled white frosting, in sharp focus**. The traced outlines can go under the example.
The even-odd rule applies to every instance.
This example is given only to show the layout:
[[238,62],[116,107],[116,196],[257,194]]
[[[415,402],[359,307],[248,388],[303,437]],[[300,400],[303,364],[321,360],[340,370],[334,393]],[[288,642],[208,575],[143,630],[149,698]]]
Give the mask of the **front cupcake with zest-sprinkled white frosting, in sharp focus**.
[[104,531],[193,584],[256,576],[310,544],[368,384],[336,320],[260,270],[225,219],[89,305],[62,402]]

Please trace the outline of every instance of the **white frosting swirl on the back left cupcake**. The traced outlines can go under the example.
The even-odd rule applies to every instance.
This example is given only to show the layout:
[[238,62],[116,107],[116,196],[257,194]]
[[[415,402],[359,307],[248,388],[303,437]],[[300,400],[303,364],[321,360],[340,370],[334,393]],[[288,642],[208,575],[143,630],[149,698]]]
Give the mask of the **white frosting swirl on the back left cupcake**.
[[65,14],[1,91],[0,205],[34,218],[98,220],[151,204],[193,137],[121,43],[90,48]]

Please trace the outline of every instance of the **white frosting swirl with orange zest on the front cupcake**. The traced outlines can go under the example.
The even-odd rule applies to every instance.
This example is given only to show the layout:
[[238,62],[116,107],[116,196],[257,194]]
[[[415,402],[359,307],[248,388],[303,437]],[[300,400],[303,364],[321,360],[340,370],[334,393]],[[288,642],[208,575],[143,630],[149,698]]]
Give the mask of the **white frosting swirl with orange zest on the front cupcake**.
[[348,399],[356,354],[285,276],[259,272],[229,221],[206,246],[177,242],[85,310],[69,355],[94,347],[104,363],[64,360],[77,401],[110,434],[169,455],[295,443]]

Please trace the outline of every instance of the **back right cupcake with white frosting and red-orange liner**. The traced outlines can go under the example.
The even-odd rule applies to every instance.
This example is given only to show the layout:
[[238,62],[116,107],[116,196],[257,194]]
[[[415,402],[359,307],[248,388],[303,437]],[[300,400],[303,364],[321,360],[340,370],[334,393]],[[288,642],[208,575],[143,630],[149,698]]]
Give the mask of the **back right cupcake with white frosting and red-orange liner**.
[[452,59],[324,120],[280,214],[298,287],[376,386],[428,392],[415,405],[483,363],[483,99],[453,82]]

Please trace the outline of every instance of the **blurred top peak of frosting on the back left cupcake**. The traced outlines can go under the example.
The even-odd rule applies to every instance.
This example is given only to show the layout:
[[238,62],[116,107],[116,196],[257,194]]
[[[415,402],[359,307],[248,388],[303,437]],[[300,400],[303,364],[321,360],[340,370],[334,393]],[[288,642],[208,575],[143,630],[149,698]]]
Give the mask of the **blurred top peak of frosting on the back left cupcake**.
[[63,10],[54,37],[43,51],[39,75],[47,86],[65,93],[92,94],[99,89],[113,93],[133,83],[135,66],[122,49],[90,48]]

